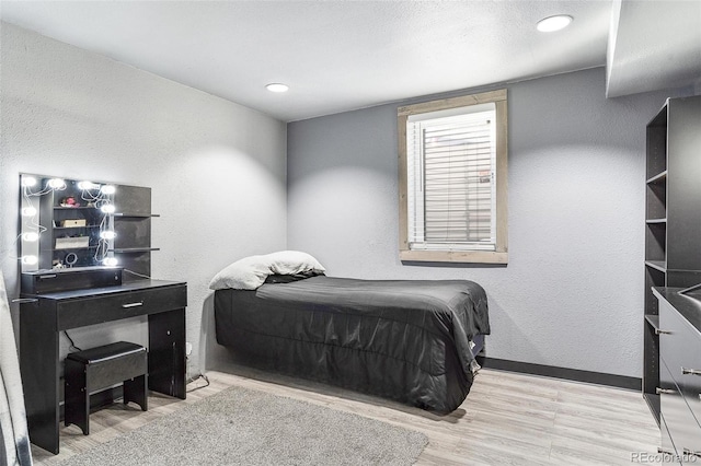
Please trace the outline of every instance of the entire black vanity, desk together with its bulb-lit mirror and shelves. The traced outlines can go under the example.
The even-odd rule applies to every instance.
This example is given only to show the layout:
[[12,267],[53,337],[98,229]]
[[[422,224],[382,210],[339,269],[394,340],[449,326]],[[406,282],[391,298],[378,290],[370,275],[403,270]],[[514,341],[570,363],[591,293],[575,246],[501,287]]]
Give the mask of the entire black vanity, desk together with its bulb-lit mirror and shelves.
[[24,401],[31,442],[57,454],[61,331],[148,316],[148,388],[185,399],[187,284],[143,279],[159,251],[151,188],[27,173],[20,186]]

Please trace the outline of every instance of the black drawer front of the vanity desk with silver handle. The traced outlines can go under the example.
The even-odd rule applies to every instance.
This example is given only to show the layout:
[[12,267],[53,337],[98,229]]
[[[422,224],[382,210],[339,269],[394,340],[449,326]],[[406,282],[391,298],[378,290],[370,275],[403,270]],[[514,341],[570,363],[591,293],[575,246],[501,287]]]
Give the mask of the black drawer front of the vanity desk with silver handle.
[[162,287],[81,300],[62,301],[57,307],[58,329],[83,327],[187,305],[187,288]]

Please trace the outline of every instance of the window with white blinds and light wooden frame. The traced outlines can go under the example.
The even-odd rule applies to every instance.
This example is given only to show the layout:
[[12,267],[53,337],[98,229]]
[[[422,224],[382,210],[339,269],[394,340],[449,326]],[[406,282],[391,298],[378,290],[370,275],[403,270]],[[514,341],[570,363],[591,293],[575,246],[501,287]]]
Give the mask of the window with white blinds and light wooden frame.
[[506,264],[506,90],[398,110],[400,258]]

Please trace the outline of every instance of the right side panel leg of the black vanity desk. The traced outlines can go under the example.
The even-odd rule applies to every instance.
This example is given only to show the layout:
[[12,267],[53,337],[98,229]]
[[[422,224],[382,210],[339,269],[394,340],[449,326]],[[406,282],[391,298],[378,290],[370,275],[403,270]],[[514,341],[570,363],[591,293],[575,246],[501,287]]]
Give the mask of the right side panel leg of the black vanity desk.
[[185,310],[149,315],[149,388],[185,399]]

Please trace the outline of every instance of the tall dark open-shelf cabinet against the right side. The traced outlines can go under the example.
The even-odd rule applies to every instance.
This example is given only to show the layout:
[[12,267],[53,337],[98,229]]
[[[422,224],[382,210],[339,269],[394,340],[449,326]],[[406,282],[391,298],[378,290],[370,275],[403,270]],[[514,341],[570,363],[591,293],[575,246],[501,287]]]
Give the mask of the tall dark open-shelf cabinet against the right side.
[[701,96],[668,98],[646,127],[643,396],[660,422],[659,304],[653,287],[701,282]]

